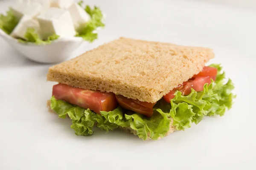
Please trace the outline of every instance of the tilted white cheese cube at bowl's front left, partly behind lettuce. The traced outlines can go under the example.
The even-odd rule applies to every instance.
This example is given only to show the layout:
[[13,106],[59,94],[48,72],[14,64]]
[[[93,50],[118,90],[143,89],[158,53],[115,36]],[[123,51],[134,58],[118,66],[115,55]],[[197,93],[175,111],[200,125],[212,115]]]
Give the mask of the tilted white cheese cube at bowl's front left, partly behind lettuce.
[[38,33],[39,31],[39,23],[37,20],[34,20],[29,15],[23,15],[23,17],[20,19],[20,22],[15,27],[15,29],[12,31],[11,36],[15,38],[23,38],[26,34],[26,31],[28,28],[34,28],[35,31]]

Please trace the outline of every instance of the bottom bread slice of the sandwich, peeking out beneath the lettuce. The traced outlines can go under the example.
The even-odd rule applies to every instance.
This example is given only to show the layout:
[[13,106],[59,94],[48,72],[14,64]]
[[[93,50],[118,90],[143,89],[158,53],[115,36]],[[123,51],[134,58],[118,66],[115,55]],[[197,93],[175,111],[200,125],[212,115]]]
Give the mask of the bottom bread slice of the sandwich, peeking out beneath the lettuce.
[[[51,101],[50,101],[50,100],[47,100],[47,108],[48,108],[48,111],[49,111],[50,113],[55,113],[55,111],[53,111],[52,108],[51,108]],[[172,125],[173,119],[172,119],[171,117],[170,117],[169,119],[171,120],[171,122],[170,122],[170,127],[169,127],[169,131],[166,133],[165,136],[168,136],[170,133],[173,133],[175,130],[177,130],[176,127],[175,127],[174,125]],[[131,127],[119,127],[119,129],[122,130],[122,131],[124,131],[124,132],[133,133],[135,136],[137,136],[136,130],[131,129]],[[162,139],[162,138],[159,137],[157,140],[159,140],[159,139]],[[151,138],[150,138],[150,133],[148,133],[148,138],[147,138],[147,140],[151,140]]]

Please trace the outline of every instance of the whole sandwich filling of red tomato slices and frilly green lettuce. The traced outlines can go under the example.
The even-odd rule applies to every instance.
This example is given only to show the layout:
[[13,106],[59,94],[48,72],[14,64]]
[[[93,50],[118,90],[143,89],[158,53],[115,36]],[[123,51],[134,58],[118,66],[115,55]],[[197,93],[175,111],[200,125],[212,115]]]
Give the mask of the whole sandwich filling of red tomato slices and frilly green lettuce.
[[107,132],[122,127],[143,140],[156,140],[166,136],[171,125],[184,130],[204,116],[223,116],[231,108],[234,86],[230,79],[225,81],[221,69],[204,67],[155,103],[58,84],[53,86],[50,107],[59,117],[72,119],[76,135],[90,136],[96,125]]

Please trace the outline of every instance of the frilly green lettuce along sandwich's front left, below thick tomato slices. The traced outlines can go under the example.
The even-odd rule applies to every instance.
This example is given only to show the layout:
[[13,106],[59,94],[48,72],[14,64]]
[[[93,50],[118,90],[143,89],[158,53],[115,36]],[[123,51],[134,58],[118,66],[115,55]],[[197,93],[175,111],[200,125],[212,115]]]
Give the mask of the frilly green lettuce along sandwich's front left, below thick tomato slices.
[[136,134],[143,140],[163,138],[169,130],[170,119],[166,113],[156,110],[150,118],[141,114],[124,114],[122,108],[118,107],[113,111],[101,111],[96,114],[89,109],[85,110],[62,100],[51,98],[51,108],[60,118],[67,116],[72,120],[71,128],[76,135],[90,136],[93,134],[93,126],[106,130],[114,130],[117,127],[128,127],[135,130]]

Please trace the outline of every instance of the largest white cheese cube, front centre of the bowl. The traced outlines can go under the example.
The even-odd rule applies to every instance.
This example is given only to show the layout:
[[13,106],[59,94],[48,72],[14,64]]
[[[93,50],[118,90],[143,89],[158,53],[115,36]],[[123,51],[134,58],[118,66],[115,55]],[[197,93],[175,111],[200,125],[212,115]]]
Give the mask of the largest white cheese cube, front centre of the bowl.
[[73,37],[76,34],[70,12],[60,8],[49,8],[37,17],[41,37],[46,40],[49,35],[57,34],[60,37]]

